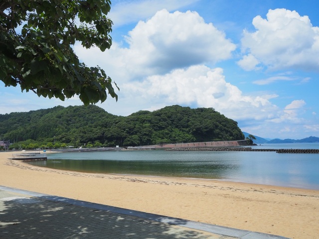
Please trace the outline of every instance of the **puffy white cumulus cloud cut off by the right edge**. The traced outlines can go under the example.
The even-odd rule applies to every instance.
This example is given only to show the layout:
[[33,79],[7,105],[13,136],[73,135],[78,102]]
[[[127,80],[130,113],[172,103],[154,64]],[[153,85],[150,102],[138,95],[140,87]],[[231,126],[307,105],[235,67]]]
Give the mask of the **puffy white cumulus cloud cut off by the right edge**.
[[318,71],[319,27],[308,16],[288,9],[270,9],[267,19],[253,19],[255,32],[244,30],[241,40],[243,58],[238,65],[244,70],[261,66],[269,69]]

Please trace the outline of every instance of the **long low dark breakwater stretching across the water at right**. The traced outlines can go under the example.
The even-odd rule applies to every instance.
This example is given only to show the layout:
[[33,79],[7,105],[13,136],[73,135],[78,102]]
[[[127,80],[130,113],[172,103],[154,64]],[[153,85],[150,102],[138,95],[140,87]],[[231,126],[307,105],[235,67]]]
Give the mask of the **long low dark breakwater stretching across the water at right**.
[[251,147],[204,147],[204,148],[167,148],[168,151],[248,151],[248,152],[276,152],[276,153],[319,153],[319,149],[274,149]]

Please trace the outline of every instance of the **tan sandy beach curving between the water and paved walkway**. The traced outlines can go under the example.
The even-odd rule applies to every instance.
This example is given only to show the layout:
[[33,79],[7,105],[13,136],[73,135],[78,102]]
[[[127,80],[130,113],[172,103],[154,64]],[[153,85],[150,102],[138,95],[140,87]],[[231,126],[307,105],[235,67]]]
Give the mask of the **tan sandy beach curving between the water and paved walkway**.
[[0,152],[0,185],[292,239],[319,238],[319,191],[54,170]]

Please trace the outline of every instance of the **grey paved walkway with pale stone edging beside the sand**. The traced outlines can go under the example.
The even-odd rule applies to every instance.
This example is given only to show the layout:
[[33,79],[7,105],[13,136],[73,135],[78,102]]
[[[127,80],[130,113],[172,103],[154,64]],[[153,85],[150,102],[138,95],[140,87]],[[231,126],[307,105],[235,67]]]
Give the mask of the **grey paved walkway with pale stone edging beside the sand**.
[[0,186],[0,239],[285,239]]

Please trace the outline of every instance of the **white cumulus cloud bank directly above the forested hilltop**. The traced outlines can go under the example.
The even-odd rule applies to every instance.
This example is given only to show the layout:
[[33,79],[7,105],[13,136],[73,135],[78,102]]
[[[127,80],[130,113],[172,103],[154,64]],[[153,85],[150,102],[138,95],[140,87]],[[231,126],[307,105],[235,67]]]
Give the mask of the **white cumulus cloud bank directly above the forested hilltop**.
[[150,76],[143,82],[128,83],[124,87],[132,96],[166,105],[211,107],[235,120],[272,119],[278,111],[268,100],[269,95],[245,96],[236,86],[225,81],[221,68],[211,69],[204,65]]

